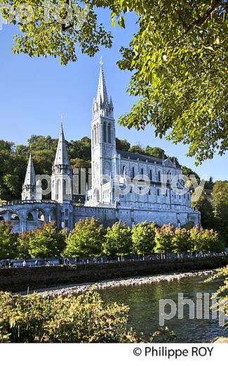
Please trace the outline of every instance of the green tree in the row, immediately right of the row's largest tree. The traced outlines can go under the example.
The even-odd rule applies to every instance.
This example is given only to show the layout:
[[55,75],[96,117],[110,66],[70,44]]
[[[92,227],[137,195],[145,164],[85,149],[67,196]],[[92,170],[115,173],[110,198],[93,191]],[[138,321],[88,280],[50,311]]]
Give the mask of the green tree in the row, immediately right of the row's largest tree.
[[131,229],[126,224],[115,222],[112,227],[107,228],[105,234],[105,242],[103,244],[103,252],[107,255],[118,255],[123,258],[131,251]]

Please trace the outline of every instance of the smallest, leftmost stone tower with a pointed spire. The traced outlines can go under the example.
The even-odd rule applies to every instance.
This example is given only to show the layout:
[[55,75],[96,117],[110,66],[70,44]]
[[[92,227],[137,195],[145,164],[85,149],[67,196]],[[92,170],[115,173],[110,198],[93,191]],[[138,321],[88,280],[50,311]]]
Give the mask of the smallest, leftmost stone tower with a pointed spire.
[[22,186],[22,201],[40,201],[42,199],[41,187],[36,184],[36,174],[32,161],[32,153],[29,155],[25,182]]

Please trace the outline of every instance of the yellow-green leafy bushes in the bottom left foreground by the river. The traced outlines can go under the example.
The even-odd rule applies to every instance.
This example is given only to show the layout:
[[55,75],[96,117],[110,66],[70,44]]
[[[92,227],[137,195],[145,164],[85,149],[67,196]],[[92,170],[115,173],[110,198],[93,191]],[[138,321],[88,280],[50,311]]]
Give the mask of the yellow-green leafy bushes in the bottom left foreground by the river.
[[105,305],[90,289],[80,296],[21,296],[0,292],[0,342],[137,342],[127,328],[128,306]]

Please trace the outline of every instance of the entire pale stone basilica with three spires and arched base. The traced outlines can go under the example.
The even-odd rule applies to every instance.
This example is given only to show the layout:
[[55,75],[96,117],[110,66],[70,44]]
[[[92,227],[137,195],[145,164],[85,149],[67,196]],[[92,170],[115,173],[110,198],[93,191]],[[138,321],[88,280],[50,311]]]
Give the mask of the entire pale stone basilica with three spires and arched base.
[[[22,201],[1,204],[0,221],[12,222],[15,232],[33,230],[51,220],[70,231],[75,222],[86,217],[96,217],[105,226],[119,220],[129,226],[146,220],[158,225],[200,225],[200,213],[191,208],[191,193],[185,189],[180,177],[182,167],[175,160],[116,150],[113,111],[101,62],[91,126],[92,184],[84,205],[74,203],[72,166],[61,125],[51,176],[51,201],[42,200],[41,182],[30,154]],[[171,184],[173,179],[176,189]]]

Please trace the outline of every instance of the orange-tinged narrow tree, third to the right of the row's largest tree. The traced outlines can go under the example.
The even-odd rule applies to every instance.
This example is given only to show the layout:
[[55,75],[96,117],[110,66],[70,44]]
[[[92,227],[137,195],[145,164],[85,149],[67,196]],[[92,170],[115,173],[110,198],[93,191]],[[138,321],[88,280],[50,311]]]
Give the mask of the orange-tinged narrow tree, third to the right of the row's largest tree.
[[171,224],[156,229],[154,252],[164,255],[173,251],[173,236],[175,227]]

